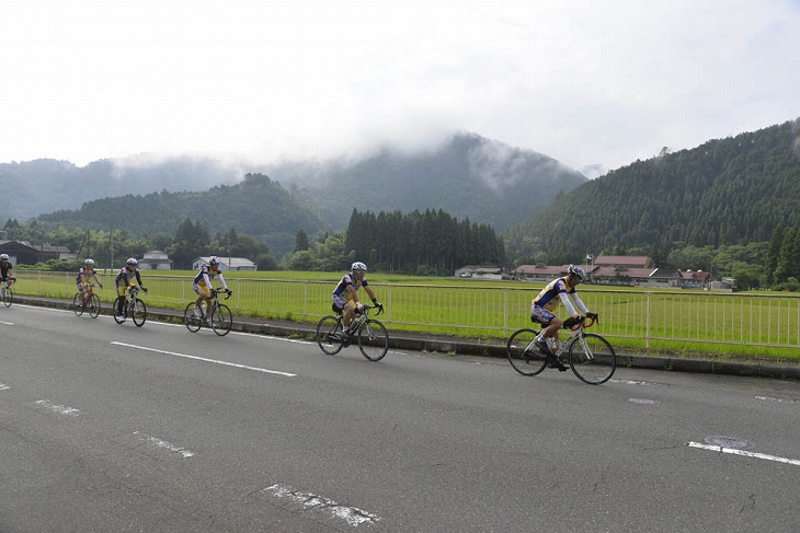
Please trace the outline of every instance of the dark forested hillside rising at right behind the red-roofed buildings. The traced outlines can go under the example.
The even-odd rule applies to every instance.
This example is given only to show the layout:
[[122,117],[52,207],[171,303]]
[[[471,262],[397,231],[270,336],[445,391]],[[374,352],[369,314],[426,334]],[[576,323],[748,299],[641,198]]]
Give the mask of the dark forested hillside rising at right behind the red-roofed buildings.
[[800,119],[637,161],[505,232],[512,260],[767,242],[800,225]]

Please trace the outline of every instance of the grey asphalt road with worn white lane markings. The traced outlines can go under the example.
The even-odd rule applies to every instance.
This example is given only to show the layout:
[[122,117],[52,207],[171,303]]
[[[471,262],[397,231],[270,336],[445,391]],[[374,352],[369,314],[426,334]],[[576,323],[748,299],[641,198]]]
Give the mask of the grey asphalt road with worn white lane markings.
[[[389,332],[391,334],[391,332]],[[800,385],[0,308],[0,532],[800,530]]]

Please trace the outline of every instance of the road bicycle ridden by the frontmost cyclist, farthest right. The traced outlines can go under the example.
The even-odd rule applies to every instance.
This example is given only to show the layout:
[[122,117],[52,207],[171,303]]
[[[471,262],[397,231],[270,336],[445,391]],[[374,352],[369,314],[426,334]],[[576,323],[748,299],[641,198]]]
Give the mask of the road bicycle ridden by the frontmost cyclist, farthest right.
[[[532,318],[532,321],[541,324]],[[546,368],[558,368],[556,358],[568,356],[572,372],[579,380],[591,385],[608,381],[617,368],[617,355],[605,338],[585,333],[597,322],[596,317],[580,317],[564,321],[563,328],[570,336],[561,343],[556,354],[542,354],[534,343],[539,334],[536,329],[523,328],[514,332],[506,344],[508,361],[523,375],[536,375]],[[541,324],[542,326],[546,324]]]

